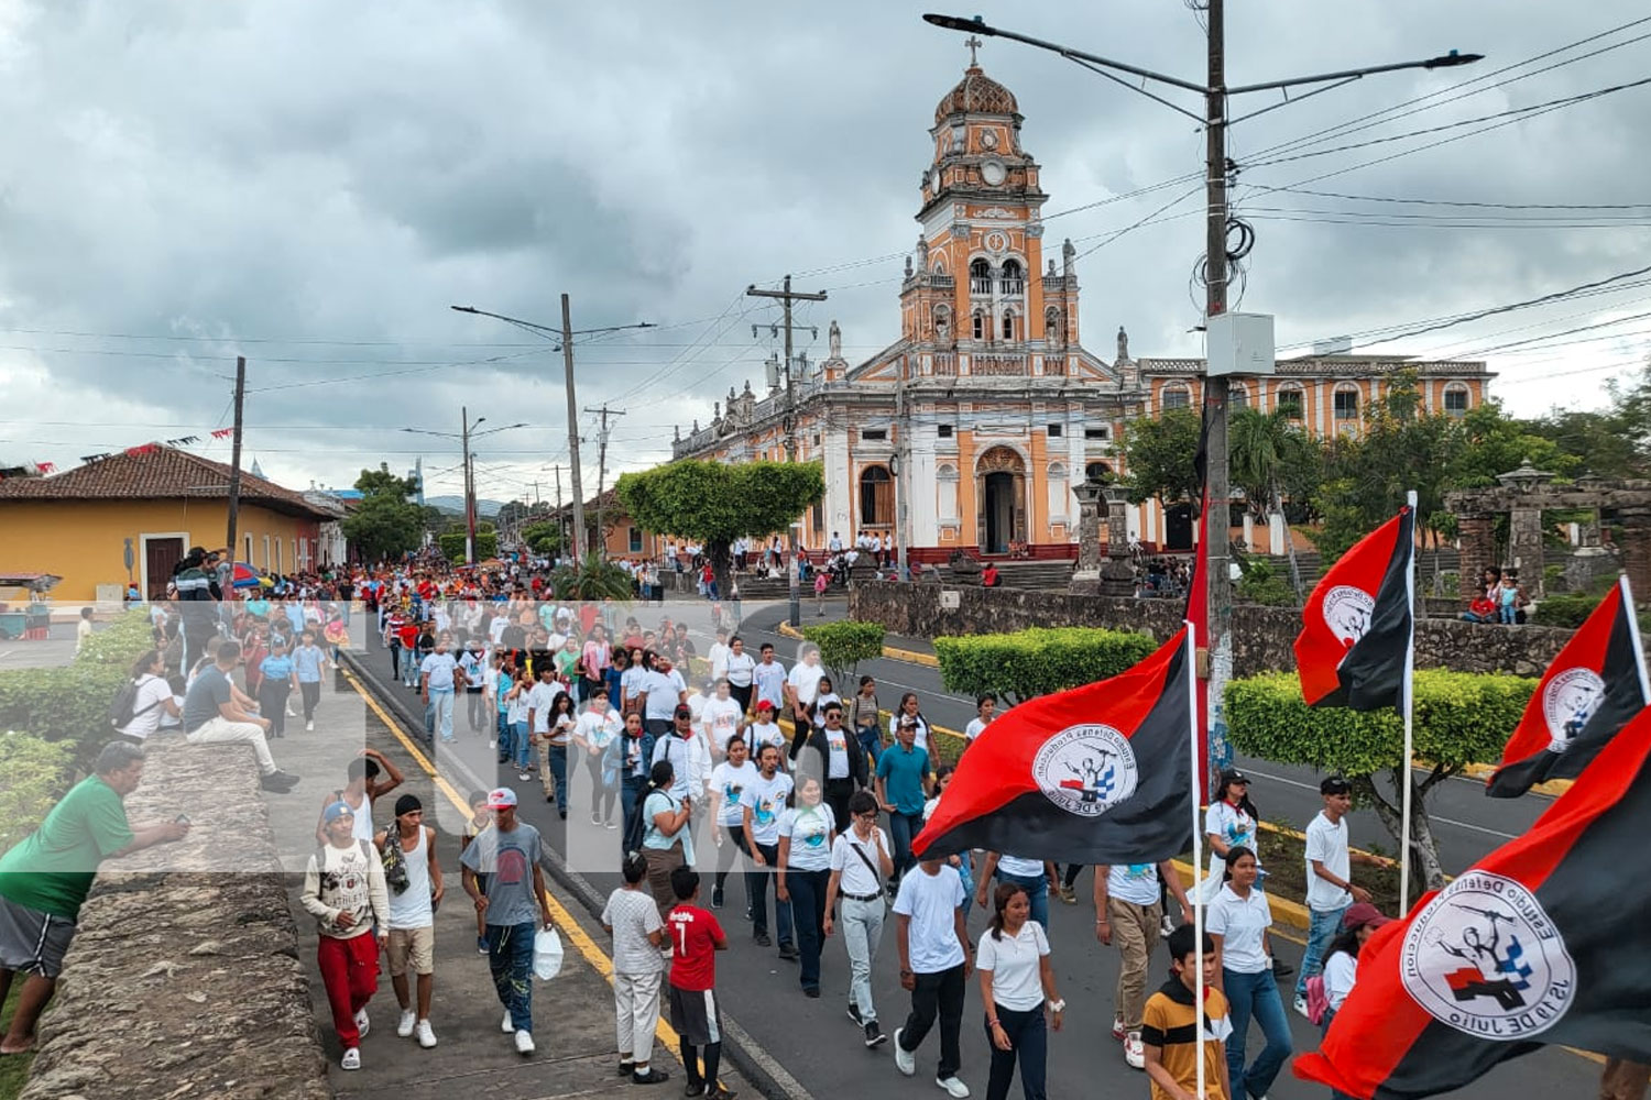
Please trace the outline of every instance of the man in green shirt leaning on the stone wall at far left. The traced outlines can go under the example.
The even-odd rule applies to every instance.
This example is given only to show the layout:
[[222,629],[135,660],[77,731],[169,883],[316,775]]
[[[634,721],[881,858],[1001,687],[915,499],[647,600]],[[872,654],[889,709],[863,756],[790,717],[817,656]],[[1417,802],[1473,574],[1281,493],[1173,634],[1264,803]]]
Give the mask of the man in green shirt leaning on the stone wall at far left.
[[183,818],[137,826],[125,820],[124,800],[142,778],[139,745],[104,745],[92,775],[76,783],[38,830],[0,856],[0,1004],[12,991],[13,975],[25,975],[0,1054],[21,1054],[35,1046],[35,1022],[56,990],[97,864],[188,834]]

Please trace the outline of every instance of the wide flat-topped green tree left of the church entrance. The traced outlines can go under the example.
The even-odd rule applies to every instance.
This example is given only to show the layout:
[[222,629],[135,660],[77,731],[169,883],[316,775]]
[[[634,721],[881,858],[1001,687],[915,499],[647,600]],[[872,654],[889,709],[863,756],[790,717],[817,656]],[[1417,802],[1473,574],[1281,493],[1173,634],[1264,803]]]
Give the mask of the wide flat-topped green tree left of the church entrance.
[[644,531],[702,543],[726,594],[733,541],[786,531],[826,496],[826,473],[819,462],[695,458],[624,473],[614,490]]

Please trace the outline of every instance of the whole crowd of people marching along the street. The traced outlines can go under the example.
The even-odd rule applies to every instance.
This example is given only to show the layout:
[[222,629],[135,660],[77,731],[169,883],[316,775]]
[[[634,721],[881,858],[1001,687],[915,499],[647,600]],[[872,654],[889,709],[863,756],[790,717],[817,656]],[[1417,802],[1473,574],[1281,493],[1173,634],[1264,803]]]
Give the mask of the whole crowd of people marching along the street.
[[[192,552],[185,562],[178,604],[155,613],[157,646],[134,670],[130,717],[86,780],[92,787],[76,788],[35,838],[0,859],[0,998],[21,971],[28,1009],[18,1011],[0,1051],[33,1041],[97,861],[188,831],[182,821],[112,830],[107,806],[97,810],[137,785],[142,742],[168,724],[196,742],[243,740],[266,788],[291,790],[297,780],[276,767],[271,740],[286,736],[287,717],[309,729],[332,646],[343,643],[329,628],[345,623],[348,600],[358,599],[383,643],[378,660],[388,661],[390,681],[418,691],[424,704],[426,739],[452,740],[462,721],[518,780],[537,780],[561,820],[588,815],[611,830],[611,866],[622,886],[603,924],[613,933],[621,1074],[637,1084],[669,1079],[652,1057],[664,999],[682,1037],[688,1095],[731,1095],[717,1077],[717,953],[733,950],[720,914],[736,907],[750,925],[745,950],[774,948],[796,963],[804,998],[821,998],[822,971],[834,955],[842,960],[847,1016],[865,1047],[892,1047],[900,1074],[916,1074],[918,1051],[936,1032],[933,1080],[953,1097],[971,1095],[961,1024],[972,978],[984,1008],[986,1095],[1007,1097],[1017,1074],[1029,1100],[1047,1095],[1048,1032],[1067,1021],[1048,905],[1052,896],[1078,904],[1083,867],[994,851],[915,856],[911,841],[953,775],[915,693],[885,721],[875,678],[837,684],[812,648],[788,668],[771,645],[753,653],[738,632],[718,628],[702,655],[685,623],[662,617],[644,627],[613,602],[561,600],[532,569],[403,566],[297,577],[289,589],[259,585],[236,600],[210,554]],[[289,709],[294,703],[300,711]],[[977,699],[967,742],[991,726],[996,704]],[[302,904],[317,922],[317,965],[347,1070],[362,1064],[380,957],[401,1013],[398,1034],[421,1047],[438,1041],[433,925],[446,892],[438,836],[414,795],[398,798],[388,828],[373,826],[375,800],[401,782],[383,754],[353,760],[345,785],[322,800],[319,848],[305,869]],[[1304,861],[1309,943],[1289,1008],[1327,1026],[1355,980],[1359,947],[1385,917],[1352,881],[1354,863],[1365,858],[1347,841],[1347,783],[1332,777],[1321,795]],[[545,839],[518,815],[518,798],[510,787],[471,797],[459,866],[500,1031],[530,1054],[533,942],[551,914],[540,872]],[[1276,985],[1288,968],[1271,953],[1243,773],[1220,777],[1205,833],[1202,943],[1189,927],[1194,899],[1169,861],[1093,869],[1095,935],[1121,957],[1111,1036],[1123,1060],[1149,1075],[1154,1097],[1189,1097],[1200,1059],[1222,1095],[1265,1097],[1291,1054]],[[79,877],[48,889],[40,874],[3,874],[46,866],[73,866]],[[731,877],[743,882],[743,904],[728,889]],[[986,928],[971,933],[976,909]],[[892,947],[883,942],[890,924]],[[1171,978],[1149,994],[1161,940]],[[910,993],[892,1031],[873,996],[878,966],[898,966]],[[1202,1039],[1189,1026],[1199,968],[1210,988]],[[1258,1049],[1247,1049],[1251,1022]]]

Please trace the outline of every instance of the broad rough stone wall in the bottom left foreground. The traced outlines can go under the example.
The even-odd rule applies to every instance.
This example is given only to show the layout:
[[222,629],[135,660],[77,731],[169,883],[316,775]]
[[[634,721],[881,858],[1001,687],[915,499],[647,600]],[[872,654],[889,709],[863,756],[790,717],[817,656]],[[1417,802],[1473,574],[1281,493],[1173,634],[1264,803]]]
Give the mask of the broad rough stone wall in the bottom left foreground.
[[332,1097],[251,749],[152,742],[125,808],[193,830],[104,864],[20,1100]]

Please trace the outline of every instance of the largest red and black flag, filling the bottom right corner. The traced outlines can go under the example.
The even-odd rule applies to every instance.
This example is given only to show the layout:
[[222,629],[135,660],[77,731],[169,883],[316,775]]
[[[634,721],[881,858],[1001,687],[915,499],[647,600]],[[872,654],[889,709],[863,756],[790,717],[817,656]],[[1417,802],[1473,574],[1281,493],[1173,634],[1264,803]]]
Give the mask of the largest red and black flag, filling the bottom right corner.
[[1461,1088],[1563,1044],[1651,1062],[1651,711],[1530,831],[1359,952],[1359,981],[1296,1075],[1352,1097]]

